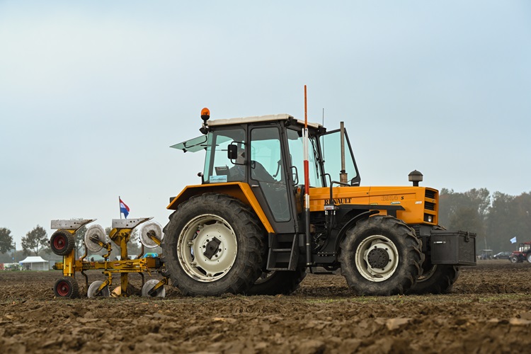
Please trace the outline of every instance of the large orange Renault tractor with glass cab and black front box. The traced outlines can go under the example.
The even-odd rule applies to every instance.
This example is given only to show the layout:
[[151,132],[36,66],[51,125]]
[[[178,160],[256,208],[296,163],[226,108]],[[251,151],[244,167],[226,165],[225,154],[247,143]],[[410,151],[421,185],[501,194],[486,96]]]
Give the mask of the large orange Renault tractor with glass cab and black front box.
[[164,275],[185,295],[290,294],[307,270],[341,269],[355,295],[443,293],[475,265],[475,234],[438,225],[439,194],[362,187],[341,123],[327,131],[291,115],[210,120],[173,145],[205,152],[161,243]]

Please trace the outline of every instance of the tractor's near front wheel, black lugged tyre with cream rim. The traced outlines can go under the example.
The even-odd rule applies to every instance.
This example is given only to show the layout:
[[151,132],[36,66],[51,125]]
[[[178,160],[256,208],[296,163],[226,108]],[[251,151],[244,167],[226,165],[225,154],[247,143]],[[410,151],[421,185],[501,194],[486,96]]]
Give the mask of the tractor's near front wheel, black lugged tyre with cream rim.
[[421,275],[421,249],[421,240],[401,220],[362,219],[341,242],[341,274],[355,295],[404,294]]

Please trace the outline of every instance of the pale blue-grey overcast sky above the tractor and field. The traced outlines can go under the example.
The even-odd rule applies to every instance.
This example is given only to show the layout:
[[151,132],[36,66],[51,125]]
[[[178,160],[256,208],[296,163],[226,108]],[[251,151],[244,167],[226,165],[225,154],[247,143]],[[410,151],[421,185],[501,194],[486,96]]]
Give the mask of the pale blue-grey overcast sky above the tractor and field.
[[530,1],[0,0],[0,227],[166,224],[212,119],[345,121],[362,185],[531,191]]

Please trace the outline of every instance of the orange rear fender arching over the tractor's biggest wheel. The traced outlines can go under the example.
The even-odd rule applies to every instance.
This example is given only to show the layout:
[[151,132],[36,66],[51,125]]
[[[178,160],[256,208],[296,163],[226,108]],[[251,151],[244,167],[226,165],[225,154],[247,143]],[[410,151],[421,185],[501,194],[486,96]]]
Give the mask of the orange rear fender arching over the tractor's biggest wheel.
[[268,233],[274,233],[275,230],[271,226],[268,218],[265,216],[263,209],[256,199],[256,196],[251,190],[251,186],[247,183],[241,182],[229,182],[229,183],[212,183],[212,184],[200,184],[200,185],[187,185],[179,195],[175,198],[170,198],[170,204],[166,207],[169,210],[177,210],[177,207],[185,202],[186,200],[192,198],[194,195],[200,195],[205,193],[217,193],[230,195],[236,199],[241,200],[246,205],[249,205],[258,219],[265,227],[265,230]]

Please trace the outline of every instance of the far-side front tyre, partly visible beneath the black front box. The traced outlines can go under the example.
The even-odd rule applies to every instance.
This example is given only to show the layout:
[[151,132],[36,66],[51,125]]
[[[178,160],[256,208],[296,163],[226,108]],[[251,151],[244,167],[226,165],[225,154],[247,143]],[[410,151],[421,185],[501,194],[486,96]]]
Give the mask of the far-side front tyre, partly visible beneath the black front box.
[[452,291],[457,278],[459,278],[457,265],[432,265],[418,277],[408,294],[447,294]]

